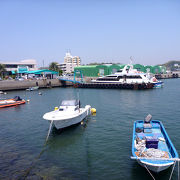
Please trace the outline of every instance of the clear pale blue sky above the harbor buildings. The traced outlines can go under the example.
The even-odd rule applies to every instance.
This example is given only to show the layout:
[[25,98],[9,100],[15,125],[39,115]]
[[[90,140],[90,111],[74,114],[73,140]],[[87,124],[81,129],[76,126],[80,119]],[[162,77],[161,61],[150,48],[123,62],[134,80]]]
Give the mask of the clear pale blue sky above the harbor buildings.
[[0,61],[180,60],[179,0],[0,0]]

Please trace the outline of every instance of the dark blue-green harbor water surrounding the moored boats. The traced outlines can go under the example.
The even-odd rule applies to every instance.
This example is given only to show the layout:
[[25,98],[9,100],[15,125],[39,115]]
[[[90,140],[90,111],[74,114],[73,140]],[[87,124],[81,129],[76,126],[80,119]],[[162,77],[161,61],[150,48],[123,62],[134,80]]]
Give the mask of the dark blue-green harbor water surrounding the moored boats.
[[[164,83],[163,88],[150,90],[52,88],[0,95],[30,100],[0,109],[0,179],[152,179],[130,159],[132,130],[135,120],[150,113],[163,122],[180,153],[180,79]],[[53,129],[45,144],[49,122],[43,114],[74,98],[83,107],[96,108],[96,116],[63,131]],[[153,175],[168,180],[171,170]],[[177,177],[176,166],[172,179]]]

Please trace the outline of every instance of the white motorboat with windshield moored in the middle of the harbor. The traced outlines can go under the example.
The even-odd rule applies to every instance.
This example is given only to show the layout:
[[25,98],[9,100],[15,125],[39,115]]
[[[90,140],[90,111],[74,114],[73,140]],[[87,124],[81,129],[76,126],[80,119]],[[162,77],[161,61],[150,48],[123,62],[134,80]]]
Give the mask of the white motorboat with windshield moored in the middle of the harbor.
[[59,108],[44,114],[43,118],[53,123],[56,129],[62,129],[80,123],[90,113],[90,105],[81,108],[79,100],[64,100]]

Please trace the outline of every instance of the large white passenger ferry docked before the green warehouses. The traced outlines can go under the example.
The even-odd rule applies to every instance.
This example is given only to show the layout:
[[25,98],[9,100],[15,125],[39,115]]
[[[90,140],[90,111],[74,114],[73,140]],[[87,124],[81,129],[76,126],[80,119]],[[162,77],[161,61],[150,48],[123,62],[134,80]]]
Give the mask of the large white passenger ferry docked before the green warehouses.
[[92,80],[95,83],[126,83],[126,84],[143,84],[151,83],[154,87],[162,86],[163,82],[158,81],[155,77],[151,76],[149,73],[143,73],[133,69],[132,64],[126,65],[122,70],[116,72],[115,74],[107,75],[104,77],[99,77],[96,80]]

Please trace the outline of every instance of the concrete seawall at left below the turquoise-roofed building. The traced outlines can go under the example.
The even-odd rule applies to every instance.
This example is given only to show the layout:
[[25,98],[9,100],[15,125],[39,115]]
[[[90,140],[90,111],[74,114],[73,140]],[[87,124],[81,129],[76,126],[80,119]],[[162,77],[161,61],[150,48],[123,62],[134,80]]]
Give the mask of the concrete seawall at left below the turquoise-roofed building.
[[33,86],[39,86],[39,88],[63,87],[63,86],[72,86],[72,83],[71,82],[61,82],[61,81],[59,81],[59,79],[0,81],[0,90],[1,91],[27,89],[27,88],[33,87]]

